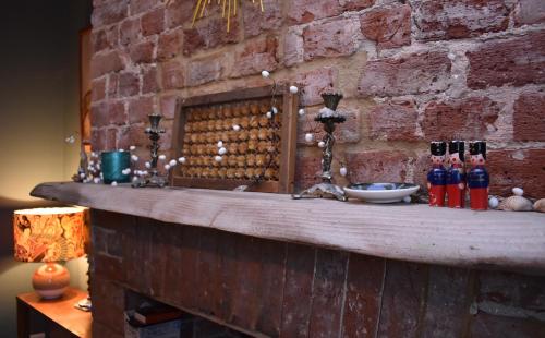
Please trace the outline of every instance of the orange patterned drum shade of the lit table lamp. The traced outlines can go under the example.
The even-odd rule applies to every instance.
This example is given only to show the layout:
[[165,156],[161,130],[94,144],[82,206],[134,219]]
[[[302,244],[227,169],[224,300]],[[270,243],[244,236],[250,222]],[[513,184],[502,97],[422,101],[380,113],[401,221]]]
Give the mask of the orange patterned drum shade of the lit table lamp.
[[82,207],[15,210],[15,259],[49,263],[83,256],[87,237],[85,214]]

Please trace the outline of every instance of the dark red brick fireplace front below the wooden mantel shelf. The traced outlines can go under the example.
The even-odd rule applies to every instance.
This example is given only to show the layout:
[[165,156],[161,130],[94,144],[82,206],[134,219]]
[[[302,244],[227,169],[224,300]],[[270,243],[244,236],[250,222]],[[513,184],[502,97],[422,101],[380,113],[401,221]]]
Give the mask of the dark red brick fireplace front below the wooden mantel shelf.
[[122,337],[126,290],[271,337],[545,336],[543,276],[389,261],[98,210],[92,219],[97,337]]

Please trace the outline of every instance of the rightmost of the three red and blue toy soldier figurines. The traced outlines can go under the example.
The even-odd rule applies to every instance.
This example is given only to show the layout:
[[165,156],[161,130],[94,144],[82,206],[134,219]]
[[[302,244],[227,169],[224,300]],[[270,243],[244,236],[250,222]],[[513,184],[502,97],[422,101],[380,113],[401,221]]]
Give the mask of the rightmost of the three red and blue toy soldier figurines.
[[473,210],[488,208],[488,172],[484,168],[486,161],[486,142],[475,141],[470,143],[471,170],[468,174],[470,189],[470,206]]

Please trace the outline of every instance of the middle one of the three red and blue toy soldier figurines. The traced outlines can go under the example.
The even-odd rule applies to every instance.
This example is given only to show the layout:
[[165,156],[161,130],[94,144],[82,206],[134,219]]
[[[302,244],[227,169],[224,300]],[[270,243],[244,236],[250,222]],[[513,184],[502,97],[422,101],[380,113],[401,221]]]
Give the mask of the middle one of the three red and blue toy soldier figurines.
[[463,208],[465,202],[463,150],[463,141],[451,141],[448,144],[450,168],[447,171],[447,205],[450,208]]

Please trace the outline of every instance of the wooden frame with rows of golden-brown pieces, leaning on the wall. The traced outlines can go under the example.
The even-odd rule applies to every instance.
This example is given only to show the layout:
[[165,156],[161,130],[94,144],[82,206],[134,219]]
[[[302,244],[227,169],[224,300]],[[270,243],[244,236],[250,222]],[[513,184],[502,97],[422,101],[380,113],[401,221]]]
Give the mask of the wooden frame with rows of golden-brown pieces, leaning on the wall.
[[[259,101],[262,105],[261,106],[262,111],[253,113],[253,116],[251,112],[249,112],[247,117],[249,119],[254,119],[255,116],[262,119],[261,121],[263,121],[263,117],[266,116],[266,113],[263,112],[263,106],[265,105],[265,102],[281,101],[281,105],[277,105],[279,106],[278,117],[274,116],[272,119],[270,119],[270,121],[276,119],[275,122],[276,126],[271,128],[272,124],[263,126],[263,129],[267,129],[269,131],[268,133],[270,135],[272,134],[275,135],[272,136],[274,141],[267,141],[275,147],[274,152],[271,147],[267,148],[267,152],[272,152],[271,155],[269,156],[267,167],[249,165],[250,161],[247,160],[247,158],[252,156],[253,152],[257,152],[257,149],[252,150],[251,148],[247,148],[247,152],[239,153],[239,158],[241,156],[244,156],[243,166],[241,166],[240,162],[237,166],[226,165],[225,159],[220,164],[214,164],[214,162],[211,164],[199,162],[198,165],[192,164],[192,161],[193,162],[199,161],[206,159],[206,157],[208,157],[206,161],[209,161],[210,158],[214,157],[210,157],[211,156],[210,154],[197,155],[197,156],[190,156],[192,154],[187,154],[191,145],[194,144],[192,141],[190,141],[190,136],[191,138],[195,138],[197,136],[203,136],[204,133],[202,130],[198,132],[186,131],[189,130],[189,126],[186,126],[186,124],[189,123],[187,121],[189,119],[192,119],[191,123],[195,123],[193,122],[193,119],[196,119],[198,117],[198,113],[202,113],[203,114],[202,121],[207,121],[207,123],[211,123],[211,121],[214,120],[216,124],[223,123],[227,124],[227,126],[229,126],[229,118],[225,116],[227,113],[221,112],[221,109],[226,109],[222,107],[230,107],[230,106],[245,107],[245,105],[256,105],[257,101]],[[256,88],[235,89],[232,92],[196,96],[184,100],[180,100],[178,102],[177,113],[174,117],[174,126],[172,133],[172,149],[177,158],[181,156],[184,156],[186,158],[191,157],[192,161],[190,161],[189,164],[181,164],[173,169],[171,174],[171,184],[173,186],[222,189],[222,190],[233,190],[238,186],[246,185],[247,191],[292,193],[294,188],[294,172],[295,172],[298,108],[299,108],[299,95],[291,94],[289,92],[288,84],[279,84],[276,87],[265,86]],[[241,109],[247,111],[246,108],[241,108]],[[271,109],[271,107],[269,109]],[[255,109],[253,109],[252,111],[254,110]],[[205,111],[208,111],[208,114],[210,116],[214,114],[214,112],[210,111],[218,111],[218,112],[215,114],[215,118],[210,118],[207,120],[205,118],[206,113]],[[244,118],[245,116],[242,116],[241,119]],[[223,119],[223,122],[221,122],[221,119]],[[222,130],[223,135],[225,132],[230,132],[227,126],[223,126]],[[262,124],[257,126],[257,129],[261,128]],[[251,129],[251,126],[247,128],[241,126],[241,132],[244,132],[245,129],[247,129],[247,132],[255,133],[255,128]],[[271,129],[274,129],[272,133],[270,132]],[[206,142],[206,145],[203,146],[206,146],[207,149],[210,149],[211,147],[210,144],[217,144],[217,140],[220,136],[215,135],[214,131],[210,131],[207,134],[209,134],[208,141]],[[213,140],[210,137],[215,138]],[[226,145],[227,142],[228,141],[226,140]],[[238,144],[243,143],[239,141],[229,141],[229,142]],[[195,144],[195,146],[197,147],[199,145],[201,144]],[[226,156],[230,155],[228,154]],[[275,164],[271,165],[272,161]],[[262,174],[259,174],[259,179],[256,179],[255,177],[250,179],[247,174],[244,177],[241,176],[226,177],[225,174],[223,176],[220,174],[218,177],[218,174],[214,173],[216,172],[214,168],[218,167],[219,171],[226,169],[227,172],[231,170],[230,168],[237,168],[235,169],[237,173],[242,172],[241,168],[246,170],[245,171],[246,173],[249,171],[252,172],[252,170],[254,170],[255,167],[255,172],[261,171]],[[194,168],[193,171],[191,171],[191,168]],[[270,170],[271,172],[275,172],[275,174],[265,178],[263,171],[269,168],[272,168]],[[207,170],[209,170],[210,172],[213,172],[211,174],[213,177],[208,174],[194,173],[194,172],[201,172],[198,171],[201,169],[204,172],[208,172]]]

